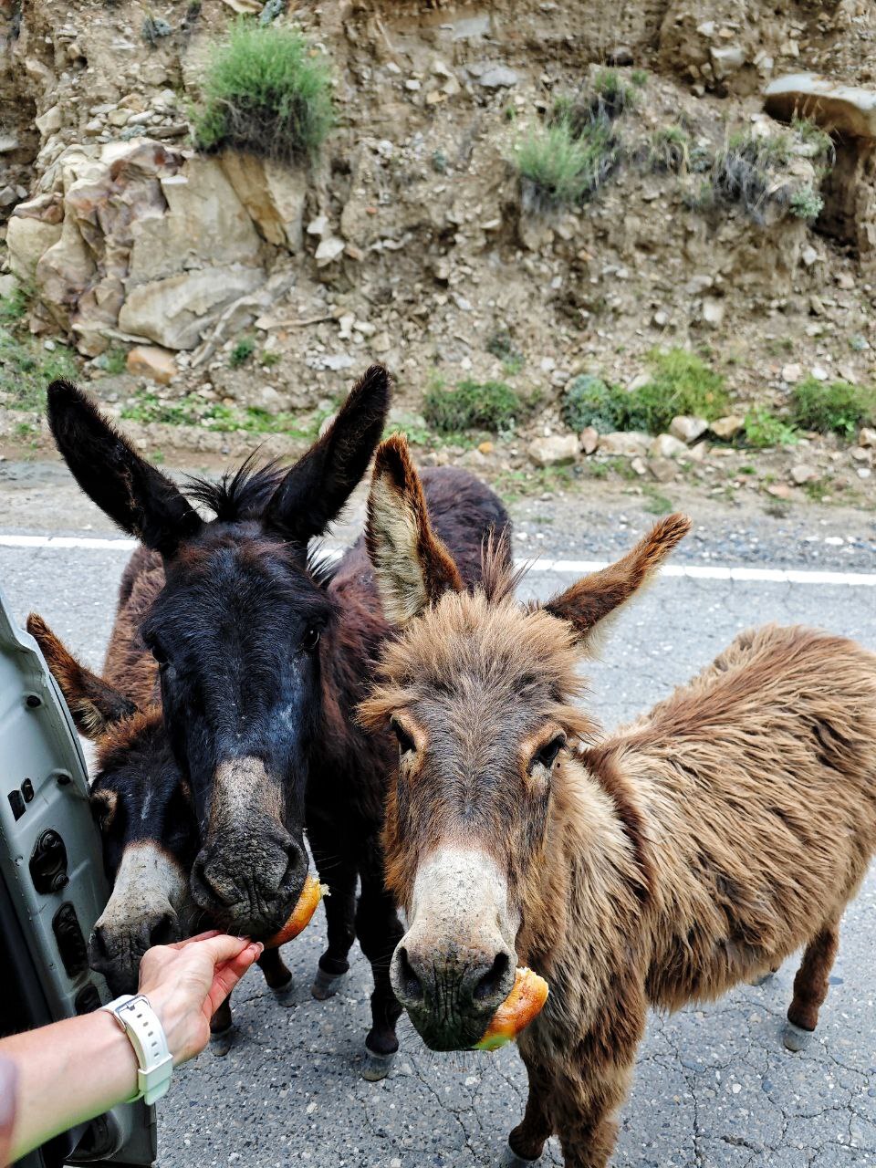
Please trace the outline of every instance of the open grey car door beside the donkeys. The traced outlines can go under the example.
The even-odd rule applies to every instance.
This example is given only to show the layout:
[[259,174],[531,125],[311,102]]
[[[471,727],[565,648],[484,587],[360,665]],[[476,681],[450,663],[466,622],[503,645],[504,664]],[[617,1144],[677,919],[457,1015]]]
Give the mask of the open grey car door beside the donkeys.
[[[86,941],[110,895],[85,760],[36,641],[0,591],[0,1037],[110,1000]],[[113,1107],[19,1161],[151,1164],[155,1112]]]

